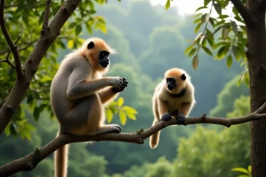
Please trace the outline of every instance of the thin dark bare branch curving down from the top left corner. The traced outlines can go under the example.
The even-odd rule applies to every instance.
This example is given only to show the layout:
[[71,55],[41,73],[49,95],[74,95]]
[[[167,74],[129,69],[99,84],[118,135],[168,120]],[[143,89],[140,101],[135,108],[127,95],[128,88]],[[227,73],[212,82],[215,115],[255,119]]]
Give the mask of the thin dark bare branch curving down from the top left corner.
[[19,50],[17,49],[16,44],[12,42],[12,38],[10,37],[4,25],[4,0],[0,0],[0,26],[1,26],[5,40],[10,46],[10,49],[12,50],[12,53],[15,59],[17,78],[20,80],[20,78],[23,76],[22,69],[21,69],[20,53],[19,53]]

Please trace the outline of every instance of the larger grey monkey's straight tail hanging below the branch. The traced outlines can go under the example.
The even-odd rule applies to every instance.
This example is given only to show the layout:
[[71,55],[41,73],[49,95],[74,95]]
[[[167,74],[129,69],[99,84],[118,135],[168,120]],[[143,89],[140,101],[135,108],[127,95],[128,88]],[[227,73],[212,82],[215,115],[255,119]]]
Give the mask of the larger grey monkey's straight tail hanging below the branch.
[[[59,133],[57,136],[59,136]],[[68,147],[69,145],[66,144],[61,148],[59,148],[58,150],[56,150],[54,153],[55,177],[66,177]]]

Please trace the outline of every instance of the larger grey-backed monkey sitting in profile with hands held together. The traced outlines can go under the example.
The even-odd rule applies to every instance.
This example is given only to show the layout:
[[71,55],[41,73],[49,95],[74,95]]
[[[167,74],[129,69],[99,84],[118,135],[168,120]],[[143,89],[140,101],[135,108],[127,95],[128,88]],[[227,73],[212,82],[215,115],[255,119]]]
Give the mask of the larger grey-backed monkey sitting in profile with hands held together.
[[[116,124],[105,125],[104,104],[128,86],[120,77],[103,77],[114,50],[100,38],[90,38],[68,54],[51,82],[51,107],[59,120],[60,134],[120,133]],[[66,144],[55,151],[55,176],[66,177]]]

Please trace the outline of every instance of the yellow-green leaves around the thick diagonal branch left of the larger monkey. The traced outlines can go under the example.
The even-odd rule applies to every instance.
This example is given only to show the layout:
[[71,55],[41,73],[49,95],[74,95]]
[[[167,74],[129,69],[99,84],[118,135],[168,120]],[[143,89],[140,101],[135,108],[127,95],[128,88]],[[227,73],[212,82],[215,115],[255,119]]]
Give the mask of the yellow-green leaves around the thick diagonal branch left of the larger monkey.
[[[51,1],[50,14],[52,19],[55,13],[59,10],[63,0]],[[106,21],[102,16],[96,15],[95,4],[105,4],[105,0],[85,0],[80,4],[69,22],[66,22],[65,27],[60,31],[60,36],[52,43],[50,50],[46,53],[42,60],[35,77],[30,84],[27,95],[22,104],[12,117],[12,121],[5,128],[5,135],[20,135],[20,137],[31,140],[31,132],[35,127],[29,123],[28,117],[25,117],[25,112],[30,111],[34,115],[34,119],[40,119],[40,114],[43,111],[50,112],[50,117],[53,118],[50,104],[50,85],[52,77],[58,70],[59,64],[58,55],[59,49],[66,50],[77,48],[84,41],[80,38],[82,35],[82,27],[86,27],[87,33],[92,34],[92,28],[100,30],[103,33],[107,32]],[[25,62],[27,56],[33,50],[34,43],[40,35],[43,27],[43,15],[45,9],[45,1],[6,1],[4,8],[4,20],[6,27],[12,40],[18,40],[17,45],[20,49],[22,63]],[[20,37],[21,36],[21,37]],[[0,57],[8,57],[8,47],[4,40],[4,35],[0,35]],[[13,63],[12,55],[9,57]],[[12,81],[15,80],[15,70],[6,64],[1,63],[0,82],[0,104],[4,103],[10,89],[12,89]],[[113,107],[114,109],[114,107]],[[107,109],[108,110],[108,109]],[[134,109],[133,109],[134,110]],[[123,112],[131,119],[135,119],[130,107],[126,107]],[[108,115],[111,115],[110,113]],[[109,116],[110,118],[110,116]],[[121,113],[121,120],[125,123],[125,117]]]

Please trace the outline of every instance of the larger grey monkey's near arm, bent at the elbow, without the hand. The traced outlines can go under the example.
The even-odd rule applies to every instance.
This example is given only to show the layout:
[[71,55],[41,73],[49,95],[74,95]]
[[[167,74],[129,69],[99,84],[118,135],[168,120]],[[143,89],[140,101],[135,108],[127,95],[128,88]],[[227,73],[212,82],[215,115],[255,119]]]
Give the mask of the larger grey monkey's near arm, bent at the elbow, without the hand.
[[89,73],[88,69],[85,67],[75,67],[74,71],[68,78],[66,95],[70,99],[90,96],[99,89],[104,89],[107,86],[112,86],[113,80],[115,80],[115,78],[106,77],[98,80],[87,81],[86,78],[91,74],[92,73]]

